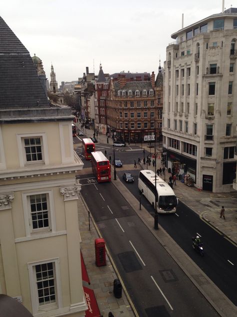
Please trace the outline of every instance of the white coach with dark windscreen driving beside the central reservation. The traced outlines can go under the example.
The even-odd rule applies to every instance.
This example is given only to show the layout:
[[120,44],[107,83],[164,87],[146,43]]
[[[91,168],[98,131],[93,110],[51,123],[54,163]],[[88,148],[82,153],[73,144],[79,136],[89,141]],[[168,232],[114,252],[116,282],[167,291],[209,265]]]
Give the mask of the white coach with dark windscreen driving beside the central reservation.
[[155,195],[157,202],[158,213],[175,213],[178,200],[174,195],[171,187],[156,175],[155,188],[155,173],[149,170],[139,172],[138,188],[142,195],[155,208]]

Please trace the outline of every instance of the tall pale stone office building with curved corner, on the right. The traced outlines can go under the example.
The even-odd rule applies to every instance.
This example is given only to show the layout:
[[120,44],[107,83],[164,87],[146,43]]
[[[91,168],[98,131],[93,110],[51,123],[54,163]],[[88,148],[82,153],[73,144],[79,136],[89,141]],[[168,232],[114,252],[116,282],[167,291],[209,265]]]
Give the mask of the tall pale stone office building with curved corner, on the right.
[[171,37],[162,125],[167,167],[189,174],[199,189],[230,191],[236,172],[237,9]]

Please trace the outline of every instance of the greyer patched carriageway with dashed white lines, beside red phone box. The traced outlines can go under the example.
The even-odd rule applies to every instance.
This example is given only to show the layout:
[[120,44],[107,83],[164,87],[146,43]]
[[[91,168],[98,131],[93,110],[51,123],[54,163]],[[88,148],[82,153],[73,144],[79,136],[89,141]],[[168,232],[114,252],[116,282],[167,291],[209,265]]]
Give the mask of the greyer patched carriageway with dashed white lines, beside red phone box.
[[91,184],[92,180],[92,175],[80,177],[81,194],[138,315],[217,316],[113,184]]

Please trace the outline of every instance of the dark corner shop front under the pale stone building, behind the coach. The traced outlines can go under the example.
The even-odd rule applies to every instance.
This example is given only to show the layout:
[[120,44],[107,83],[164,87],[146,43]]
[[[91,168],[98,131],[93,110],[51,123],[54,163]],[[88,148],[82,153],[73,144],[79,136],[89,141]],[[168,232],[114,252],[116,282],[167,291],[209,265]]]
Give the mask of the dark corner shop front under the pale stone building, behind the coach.
[[196,160],[181,155],[170,149],[165,150],[167,156],[167,168],[176,175],[189,175],[193,183],[196,183]]

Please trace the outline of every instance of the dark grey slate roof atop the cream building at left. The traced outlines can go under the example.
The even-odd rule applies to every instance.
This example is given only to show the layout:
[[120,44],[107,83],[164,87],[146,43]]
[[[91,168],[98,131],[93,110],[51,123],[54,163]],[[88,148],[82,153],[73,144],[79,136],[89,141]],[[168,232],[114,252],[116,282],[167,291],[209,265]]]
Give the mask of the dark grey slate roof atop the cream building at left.
[[49,107],[27,49],[0,17],[0,109]]

